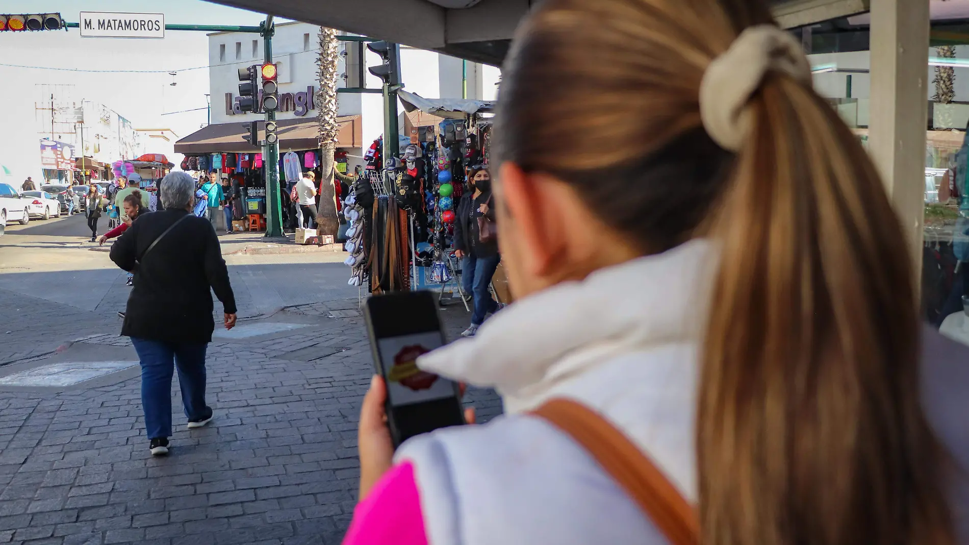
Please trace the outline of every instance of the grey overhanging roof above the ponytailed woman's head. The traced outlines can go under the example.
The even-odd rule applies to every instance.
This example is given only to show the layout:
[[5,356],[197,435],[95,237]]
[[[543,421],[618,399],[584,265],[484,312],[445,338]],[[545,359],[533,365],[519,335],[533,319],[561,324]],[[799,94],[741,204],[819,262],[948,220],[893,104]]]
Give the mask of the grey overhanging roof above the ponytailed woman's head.
[[[499,65],[539,0],[216,0],[236,8]],[[594,0],[590,0],[594,1]],[[778,22],[803,26],[868,10],[870,0],[772,0]]]

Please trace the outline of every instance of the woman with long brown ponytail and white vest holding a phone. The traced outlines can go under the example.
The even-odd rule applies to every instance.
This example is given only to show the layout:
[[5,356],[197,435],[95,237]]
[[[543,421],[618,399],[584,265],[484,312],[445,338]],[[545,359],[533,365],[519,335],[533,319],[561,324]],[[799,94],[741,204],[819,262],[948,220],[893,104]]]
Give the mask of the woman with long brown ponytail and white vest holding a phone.
[[969,371],[766,0],[546,0],[499,105],[516,303],[418,366],[506,414],[394,453],[374,377],[344,543],[969,543]]

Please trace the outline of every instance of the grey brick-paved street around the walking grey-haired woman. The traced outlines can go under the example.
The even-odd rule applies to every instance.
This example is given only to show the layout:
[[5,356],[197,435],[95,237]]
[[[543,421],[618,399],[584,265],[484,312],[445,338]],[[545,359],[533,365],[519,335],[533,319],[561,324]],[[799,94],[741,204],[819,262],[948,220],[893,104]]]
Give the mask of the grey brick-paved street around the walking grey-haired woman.
[[[75,216],[0,238],[0,543],[338,543],[372,369],[345,254],[226,256],[244,319],[209,345],[215,420],[185,430],[175,387],[172,454],[152,458],[137,357],[117,337],[129,288],[83,235]],[[466,325],[461,305],[442,314],[452,337]],[[95,365],[120,370],[4,383]],[[466,401],[483,420],[500,412],[490,391]]]

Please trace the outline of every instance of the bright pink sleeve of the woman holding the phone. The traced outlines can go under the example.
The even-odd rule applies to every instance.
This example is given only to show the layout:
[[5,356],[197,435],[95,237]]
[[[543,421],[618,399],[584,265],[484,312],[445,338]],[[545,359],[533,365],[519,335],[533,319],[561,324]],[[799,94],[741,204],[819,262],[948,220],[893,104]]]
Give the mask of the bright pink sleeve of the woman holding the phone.
[[343,545],[427,545],[414,465],[394,465],[357,504]]

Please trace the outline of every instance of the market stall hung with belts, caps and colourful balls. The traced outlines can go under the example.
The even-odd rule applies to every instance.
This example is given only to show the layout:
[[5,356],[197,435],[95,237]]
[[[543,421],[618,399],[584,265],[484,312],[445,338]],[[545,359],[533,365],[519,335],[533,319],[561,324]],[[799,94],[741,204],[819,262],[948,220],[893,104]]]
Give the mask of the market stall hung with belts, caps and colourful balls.
[[468,171],[487,163],[494,103],[405,91],[399,97],[408,144],[390,158],[382,157],[382,141],[371,144],[345,205],[353,234],[349,283],[372,293],[440,287],[442,298],[450,290],[464,301],[453,257],[453,208]]

